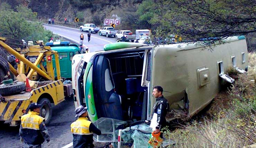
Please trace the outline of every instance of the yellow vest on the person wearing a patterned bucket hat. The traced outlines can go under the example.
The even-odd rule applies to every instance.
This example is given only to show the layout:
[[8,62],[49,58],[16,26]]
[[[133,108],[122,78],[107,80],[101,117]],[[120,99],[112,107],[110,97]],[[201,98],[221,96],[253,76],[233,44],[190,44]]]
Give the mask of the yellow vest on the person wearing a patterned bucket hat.
[[76,121],[71,124],[71,132],[72,134],[77,135],[91,135],[89,131],[89,126],[92,122],[88,120],[88,118],[79,117]]

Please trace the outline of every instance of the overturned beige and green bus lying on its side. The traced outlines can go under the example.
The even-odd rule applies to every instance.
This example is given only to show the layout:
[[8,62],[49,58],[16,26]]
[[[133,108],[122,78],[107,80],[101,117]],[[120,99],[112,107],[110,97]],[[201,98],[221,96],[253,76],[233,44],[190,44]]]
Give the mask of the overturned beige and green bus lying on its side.
[[226,75],[228,66],[245,73],[247,59],[244,36],[211,46],[107,44],[104,51],[74,55],[74,103],[86,105],[92,121],[101,117],[149,120],[155,103],[153,87],[159,85],[170,104],[167,121],[191,117],[212,101],[221,84],[234,81]]

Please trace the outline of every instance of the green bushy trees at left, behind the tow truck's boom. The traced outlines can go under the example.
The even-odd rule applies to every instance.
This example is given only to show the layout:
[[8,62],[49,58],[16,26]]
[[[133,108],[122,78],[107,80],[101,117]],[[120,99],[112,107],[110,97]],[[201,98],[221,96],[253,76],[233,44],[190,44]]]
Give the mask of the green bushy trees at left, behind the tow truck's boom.
[[0,20],[0,36],[8,38],[7,44],[12,47],[19,47],[22,39],[43,40],[46,43],[53,36],[51,31],[45,30],[42,23],[37,21],[31,9],[21,5],[13,10],[9,4],[1,3]]

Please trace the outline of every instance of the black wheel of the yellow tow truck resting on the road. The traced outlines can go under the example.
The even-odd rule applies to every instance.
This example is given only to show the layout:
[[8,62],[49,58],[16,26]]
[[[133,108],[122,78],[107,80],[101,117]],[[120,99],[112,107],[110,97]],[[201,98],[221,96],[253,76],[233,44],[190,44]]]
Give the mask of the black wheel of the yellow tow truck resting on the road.
[[45,125],[48,125],[52,118],[52,105],[49,99],[47,98],[41,98],[38,101],[38,104],[42,104],[41,110],[40,110],[40,116],[45,118]]

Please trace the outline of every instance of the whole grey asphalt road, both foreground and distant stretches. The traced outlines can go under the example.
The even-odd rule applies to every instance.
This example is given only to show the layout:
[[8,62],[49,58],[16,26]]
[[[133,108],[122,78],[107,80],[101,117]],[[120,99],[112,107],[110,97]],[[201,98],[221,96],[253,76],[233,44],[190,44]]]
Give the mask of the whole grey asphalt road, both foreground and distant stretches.
[[[47,30],[51,30],[64,38],[79,43],[81,31],[56,25],[44,25]],[[87,32],[84,44],[89,47],[90,52],[103,50],[105,44],[116,42],[115,38],[106,38],[98,33],[91,33],[91,41],[88,43]],[[53,107],[53,116],[51,123],[47,126],[51,141],[44,142],[43,148],[62,148],[70,144],[73,140],[70,131],[70,125],[75,120],[75,106],[73,98],[67,98],[66,101]],[[10,127],[8,123],[0,127],[0,148],[20,148],[22,144],[19,139],[19,126]],[[65,148],[69,148],[68,146]],[[72,148],[72,145],[71,145]]]

